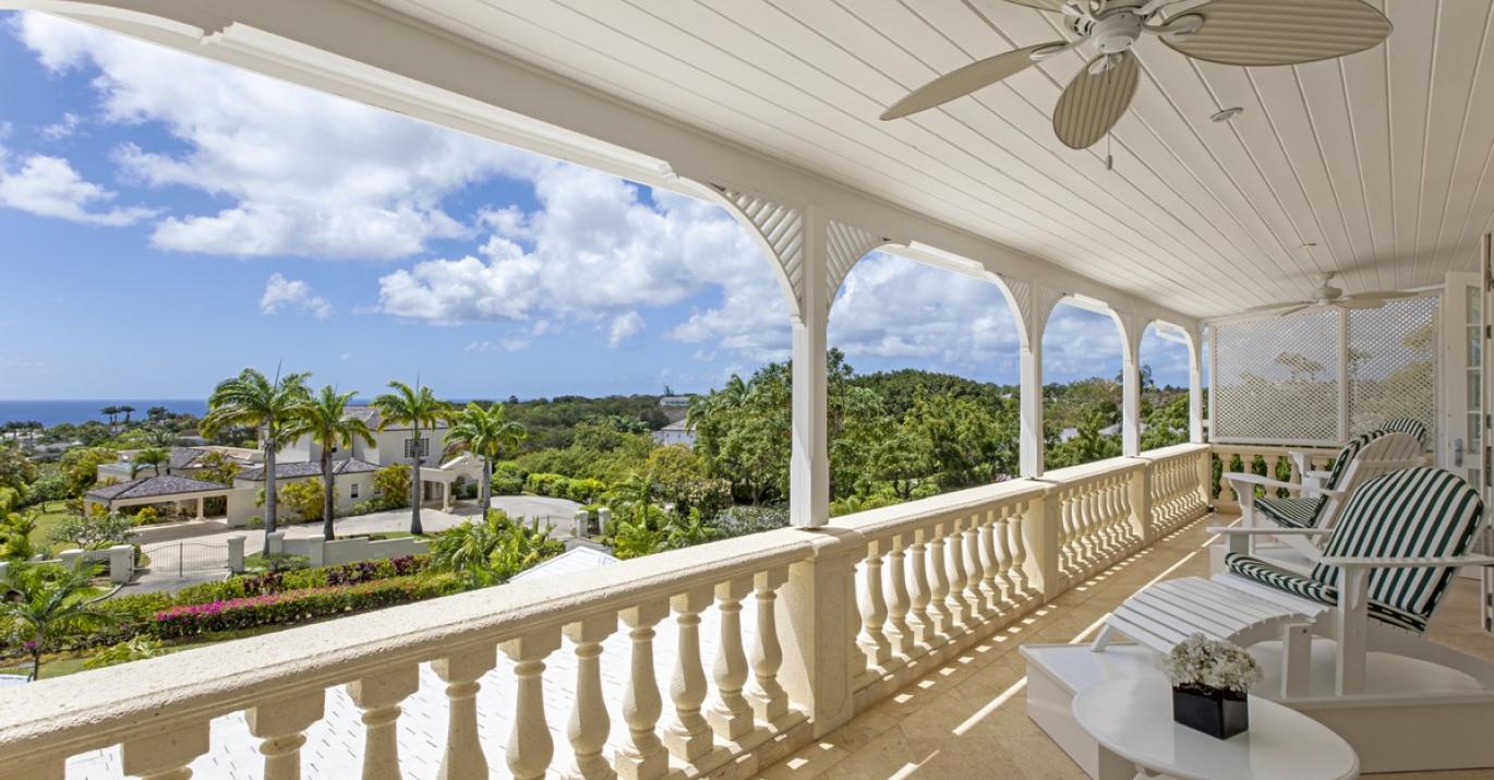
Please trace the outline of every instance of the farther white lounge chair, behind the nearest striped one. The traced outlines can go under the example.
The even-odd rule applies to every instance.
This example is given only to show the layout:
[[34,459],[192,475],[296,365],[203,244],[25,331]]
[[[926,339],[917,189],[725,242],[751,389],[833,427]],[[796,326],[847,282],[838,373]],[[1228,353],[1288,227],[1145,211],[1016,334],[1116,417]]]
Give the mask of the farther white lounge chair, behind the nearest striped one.
[[[1258,474],[1225,474],[1224,478],[1240,496],[1240,524],[1250,529],[1331,529],[1339,520],[1345,501],[1358,486],[1391,471],[1419,466],[1421,444],[1409,433],[1386,433],[1374,430],[1355,436],[1339,450],[1333,471],[1324,486],[1312,493],[1304,486],[1271,480]],[[1256,496],[1255,489],[1264,487],[1267,496]],[[1277,489],[1292,495],[1276,498]],[[1319,538],[1313,535],[1280,533],[1279,542],[1318,557]]]

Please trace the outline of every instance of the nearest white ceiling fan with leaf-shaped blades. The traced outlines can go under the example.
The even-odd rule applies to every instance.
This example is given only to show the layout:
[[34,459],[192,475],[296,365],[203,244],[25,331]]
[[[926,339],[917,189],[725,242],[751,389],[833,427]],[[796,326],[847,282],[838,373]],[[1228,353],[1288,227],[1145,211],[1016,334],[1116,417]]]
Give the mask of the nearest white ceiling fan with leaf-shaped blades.
[[1279,66],[1331,60],[1376,46],[1391,22],[1363,0],[1005,0],[1064,15],[1074,40],[1026,46],[952,70],[913,90],[881,114],[896,120],[940,106],[1094,42],[1089,66],[1064,90],[1053,131],[1074,149],[1110,133],[1131,106],[1141,67],[1131,46],[1155,34],[1174,51],[1210,63]]

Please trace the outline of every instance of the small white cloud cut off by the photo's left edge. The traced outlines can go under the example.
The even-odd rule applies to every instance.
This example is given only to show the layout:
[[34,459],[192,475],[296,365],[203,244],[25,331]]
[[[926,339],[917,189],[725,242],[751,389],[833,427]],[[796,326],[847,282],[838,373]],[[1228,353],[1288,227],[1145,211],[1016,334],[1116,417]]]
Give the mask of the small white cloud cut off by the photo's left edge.
[[78,175],[61,157],[34,154],[9,164],[0,149],[0,205],[37,217],[123,227],[151,217],[151,209],[114,206],[115,193]]

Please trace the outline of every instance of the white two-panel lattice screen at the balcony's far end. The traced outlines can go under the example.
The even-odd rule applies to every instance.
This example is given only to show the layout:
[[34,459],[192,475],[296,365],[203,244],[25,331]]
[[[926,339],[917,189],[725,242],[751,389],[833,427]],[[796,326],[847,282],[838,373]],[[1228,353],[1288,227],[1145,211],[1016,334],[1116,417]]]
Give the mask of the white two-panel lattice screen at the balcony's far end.
[[1210,438],[1336,445],[1397,417],[1436,424],[1437,299],[1210,326]]

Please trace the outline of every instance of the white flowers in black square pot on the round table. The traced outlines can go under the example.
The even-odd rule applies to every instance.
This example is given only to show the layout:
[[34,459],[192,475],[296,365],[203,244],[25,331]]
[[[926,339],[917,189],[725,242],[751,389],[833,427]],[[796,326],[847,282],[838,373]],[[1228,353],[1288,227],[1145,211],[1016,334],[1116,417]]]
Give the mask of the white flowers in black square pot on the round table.
[[1262,678],[1243,649],[1194,634],[1167,656],[1173,720],[1218,740],[1250,728],[1246,692]]

